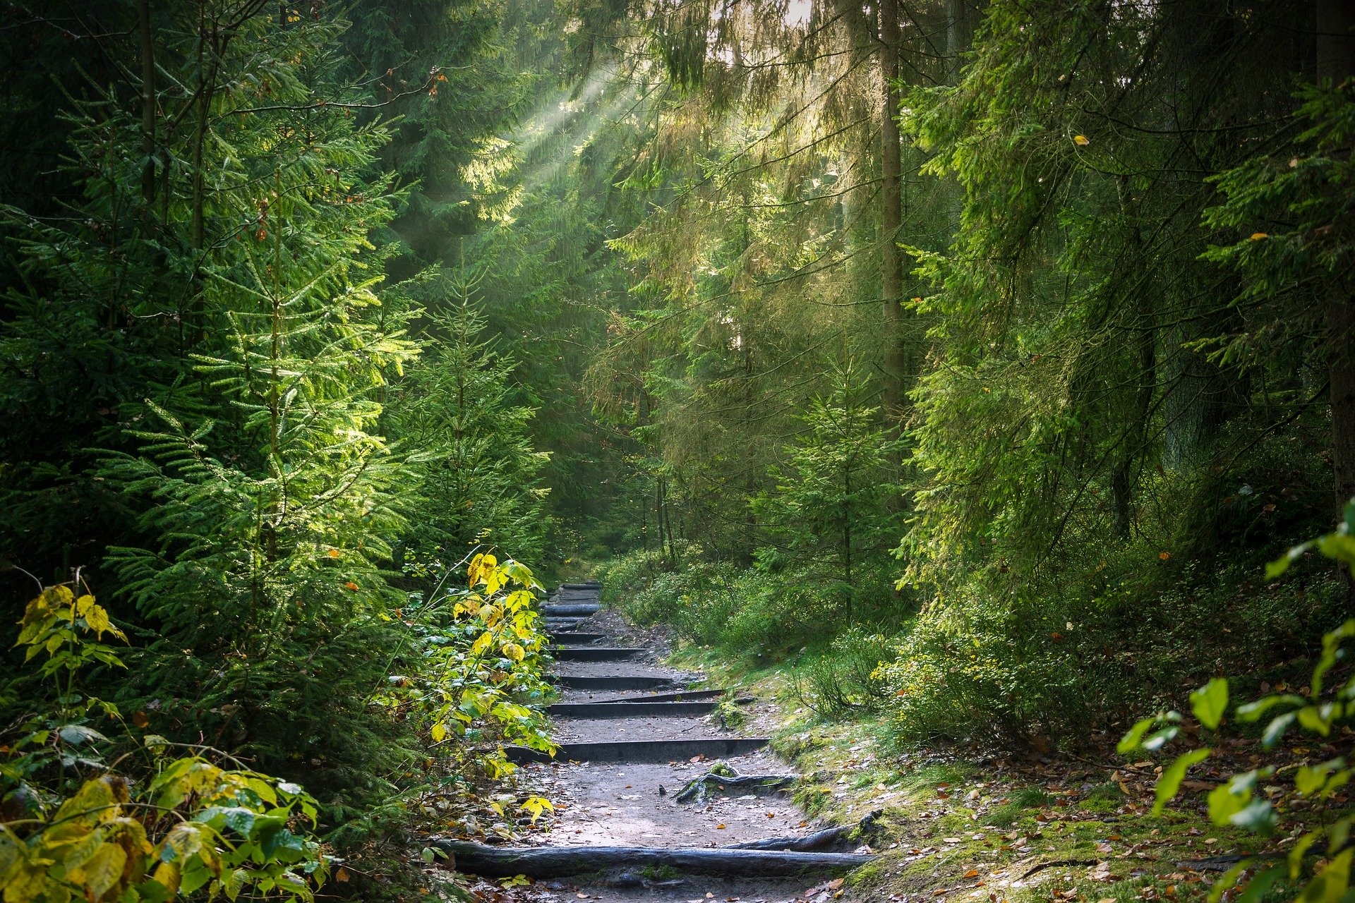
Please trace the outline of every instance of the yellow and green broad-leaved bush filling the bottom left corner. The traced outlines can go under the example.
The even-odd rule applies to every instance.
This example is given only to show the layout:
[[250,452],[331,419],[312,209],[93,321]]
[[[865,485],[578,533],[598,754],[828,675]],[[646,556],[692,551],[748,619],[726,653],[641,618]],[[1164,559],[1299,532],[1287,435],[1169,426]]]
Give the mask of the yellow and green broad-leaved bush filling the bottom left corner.
[[[93,596],[69,585],[45,589],[24,609],[26,659],[54,693],[46,711],[5,736],[0,759],[0,885],[7,903],[163,902],[206,888],[314,899],[329,871],[316,826],[316,801],[295,784],[245,769],[224,769],[203,754],[175,757],[175,745],[145,735],[145,780],[103,765],[107,738],[92,713],[121,720],[115,705],[79,686],[91,662],[121,666],[99,642],[122,631]],[[93,639],[89,639],[93,634]],[[123,757],[127,758],[127,757]],[[130,761],[137,761],[131,758]],[[81,777],[95,773],[92,777]]]

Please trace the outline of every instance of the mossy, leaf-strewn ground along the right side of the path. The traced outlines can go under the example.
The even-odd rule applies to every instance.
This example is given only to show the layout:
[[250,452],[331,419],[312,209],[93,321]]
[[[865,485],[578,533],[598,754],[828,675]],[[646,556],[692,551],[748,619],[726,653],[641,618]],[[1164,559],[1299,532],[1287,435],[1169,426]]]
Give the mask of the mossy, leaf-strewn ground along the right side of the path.
[[1202,900],[1230,865],[1211,857],[1256,849],[1252,835],[1203,816],[1207,788],[1152,816],[1149,762],[1125,780],[1076,759],[900,750],[875,718],[825,722],[808,711],[795,695],[794,661],[748,669],[686,650],[673,663],[776,701],[756,726],[805,776],[795,799],[806,814],[850,824],[882,811],[862,838],[879,858],[854,872],[836,899]]

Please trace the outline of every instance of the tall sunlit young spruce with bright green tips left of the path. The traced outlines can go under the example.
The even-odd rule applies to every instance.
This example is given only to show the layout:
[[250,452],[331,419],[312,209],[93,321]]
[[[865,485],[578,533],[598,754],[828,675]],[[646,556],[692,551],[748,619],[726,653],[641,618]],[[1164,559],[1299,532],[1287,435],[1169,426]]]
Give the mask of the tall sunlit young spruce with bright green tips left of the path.
[[182,322],[201,329],[187,391],[129,410],[138,447],[110,451],[100,477],[146,537],[108,555],[157,636],[142,692],[194,735],[351,789],[385,754],[363,707],[392,642],[383,569],[413,487],[375,429],[417,347],[377,294],[385,252],[369,240],[398,200],[389,177],[366,177],[388,134],[316,93],[333,84],[341,23],[289,26],[255,19],[236,37],[287,62],[214,93],[211,179],[169,207],[178,234],[206,236],[187,273]]

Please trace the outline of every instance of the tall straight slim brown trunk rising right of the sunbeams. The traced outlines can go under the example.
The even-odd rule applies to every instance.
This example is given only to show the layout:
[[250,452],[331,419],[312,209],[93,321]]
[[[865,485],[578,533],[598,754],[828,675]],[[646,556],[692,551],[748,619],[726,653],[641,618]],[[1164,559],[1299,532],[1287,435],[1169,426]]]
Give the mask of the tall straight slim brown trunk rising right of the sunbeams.
[[902,225],[901,137],[898,133],[898,0],[879,3],[879,80],[882,92],[879,175],[883,245],[881,295],[885,303],[885,413],[898,418],[904,409],[908,353],[904,347],[904,255],[898,248]]

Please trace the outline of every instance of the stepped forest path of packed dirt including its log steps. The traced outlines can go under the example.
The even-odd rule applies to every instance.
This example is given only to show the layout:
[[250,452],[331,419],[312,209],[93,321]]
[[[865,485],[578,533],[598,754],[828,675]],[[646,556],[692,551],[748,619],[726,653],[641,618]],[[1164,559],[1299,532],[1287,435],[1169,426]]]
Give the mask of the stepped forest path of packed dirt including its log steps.
[[[844,849],[840,838],[783,849],[822,837],[790,796],[798,776],[764,749],[767,738],[726,730],[718,688],[660,663],[661,640],[603,611],[599,596],[596,583],[565,583],[546,607],[561,686],[551,707],[560,751],[550,759],[509,749],[523,766],[522,784],[556,806],[549,833],[512,849],[447,845],[457,868],[526,873],[538,880],[515,899],[542,903],[829,899],[840,885],[833,876],[869,857],[835,852]],[[678,801],[717,762],[738,776],[789,780],[779,788],[713,787],[699,801]],[[786,843],[730,849],[772,838]]]

